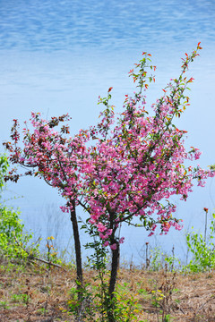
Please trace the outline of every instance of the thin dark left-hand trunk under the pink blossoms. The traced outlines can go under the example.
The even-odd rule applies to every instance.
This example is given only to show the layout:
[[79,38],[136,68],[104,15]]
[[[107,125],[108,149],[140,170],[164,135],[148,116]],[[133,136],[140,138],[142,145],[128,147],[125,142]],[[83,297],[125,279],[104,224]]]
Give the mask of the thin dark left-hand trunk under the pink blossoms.
[[81,242],[79,236],[79,228],[76,216],[75,205],[73,202],[73,209],[70,211],[70,218],[73,224],[73,239],[74,239],[74,250],[75,250],[75,259],[76,259],[76,274],[77,280],[80,286],[82,286],[82,251],[81,251]]

